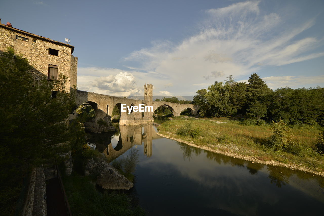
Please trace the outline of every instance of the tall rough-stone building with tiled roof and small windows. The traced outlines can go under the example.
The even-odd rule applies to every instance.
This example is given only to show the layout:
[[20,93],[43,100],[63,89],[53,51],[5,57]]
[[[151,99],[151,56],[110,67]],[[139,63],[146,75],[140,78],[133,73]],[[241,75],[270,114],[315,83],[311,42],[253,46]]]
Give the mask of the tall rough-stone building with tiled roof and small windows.
[[66,89],[76,86],[78,58],[72,55],[74,46],[1,24],[0,19],[0,52],[6,47],[28,59],[35,79],[43,74],[49,81],[57,80],[63,73],[68,77]]

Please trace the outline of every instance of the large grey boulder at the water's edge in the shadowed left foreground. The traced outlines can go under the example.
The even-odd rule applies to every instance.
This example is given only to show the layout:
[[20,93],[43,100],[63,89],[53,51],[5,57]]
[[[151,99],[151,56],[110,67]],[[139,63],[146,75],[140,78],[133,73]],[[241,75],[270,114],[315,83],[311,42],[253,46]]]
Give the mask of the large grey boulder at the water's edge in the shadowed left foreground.
[[133,183],[107,163],[104,158],[88,160],[85,175],[97,176],[97,184],[104,189],[128,190],[133,187]]

